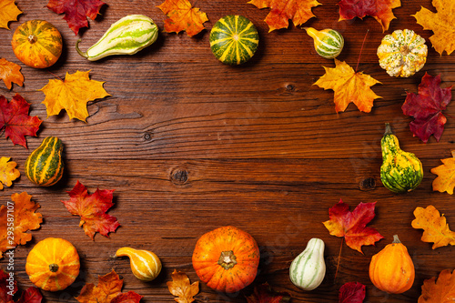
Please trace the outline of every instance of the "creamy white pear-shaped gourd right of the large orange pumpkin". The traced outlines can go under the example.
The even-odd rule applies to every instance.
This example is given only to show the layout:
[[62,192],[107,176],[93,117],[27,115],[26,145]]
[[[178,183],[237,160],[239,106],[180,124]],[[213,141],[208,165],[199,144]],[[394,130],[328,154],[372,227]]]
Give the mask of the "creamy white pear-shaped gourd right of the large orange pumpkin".
[[291,282],[303,290],[318,288],[326,275],[324,241],[313,237],[305,250],[295,258],[289,268]]

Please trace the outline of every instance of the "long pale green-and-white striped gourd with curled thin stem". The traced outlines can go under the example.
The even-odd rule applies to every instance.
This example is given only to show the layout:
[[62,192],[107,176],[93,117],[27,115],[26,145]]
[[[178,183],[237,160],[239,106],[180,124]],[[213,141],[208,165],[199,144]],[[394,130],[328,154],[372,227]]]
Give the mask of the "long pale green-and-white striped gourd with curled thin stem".
[[147,15],[126,15],[111,25],[85,53],[79,49],[81,39],[77,40],[76,51],[90,61],[111,55],[134,55],[157,41],[157,36],[158,26]]

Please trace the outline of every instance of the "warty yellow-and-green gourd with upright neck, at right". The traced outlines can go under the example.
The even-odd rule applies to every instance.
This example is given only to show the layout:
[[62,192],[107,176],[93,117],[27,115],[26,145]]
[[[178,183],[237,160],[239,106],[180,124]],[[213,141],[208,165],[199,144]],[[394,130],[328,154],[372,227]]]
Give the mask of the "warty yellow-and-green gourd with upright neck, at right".
[[389,123],[380,141],[382,165],[380,180],[384,187],[394,193],[411,191],[420,185],[423,168],[418,157],[399,148],[397,136],[392,134]]

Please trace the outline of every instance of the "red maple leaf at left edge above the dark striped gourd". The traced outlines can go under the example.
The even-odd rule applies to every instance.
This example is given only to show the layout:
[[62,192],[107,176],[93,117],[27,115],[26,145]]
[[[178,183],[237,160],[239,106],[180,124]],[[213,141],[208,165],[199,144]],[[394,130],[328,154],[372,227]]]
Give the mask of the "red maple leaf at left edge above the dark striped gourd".
[[28,116],[30,105],[19,94],[15,94],[8,103],[5,96],[0,96],[0,130],[5,127],[5,136],[11,138],[14,145],[26,148],[25,136],[36,136],[42,120],[37,116]]

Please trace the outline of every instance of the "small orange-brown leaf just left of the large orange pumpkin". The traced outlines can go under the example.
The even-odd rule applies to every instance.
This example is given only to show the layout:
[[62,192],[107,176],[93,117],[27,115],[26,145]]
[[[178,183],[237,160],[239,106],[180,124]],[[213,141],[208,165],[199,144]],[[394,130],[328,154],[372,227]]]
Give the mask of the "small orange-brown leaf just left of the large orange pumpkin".
[[191,303],[199,292],[199,281],[190,284],[187,274],[183,271],[177,271],[171,274],[172,281],[167,281],[167,288],[169,292],[178,297],[174,298],[178,303]]

